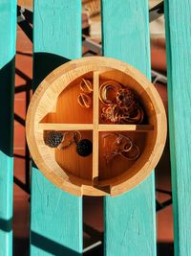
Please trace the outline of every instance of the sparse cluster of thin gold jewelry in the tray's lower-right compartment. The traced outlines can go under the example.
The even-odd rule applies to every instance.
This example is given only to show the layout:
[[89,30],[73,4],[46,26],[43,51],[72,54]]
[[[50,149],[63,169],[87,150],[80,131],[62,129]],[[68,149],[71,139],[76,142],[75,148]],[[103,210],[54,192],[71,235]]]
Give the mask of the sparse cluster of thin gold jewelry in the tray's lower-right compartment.
[[124,134],[121,133],[109,133],[103,137],[104,139],[104,148],[106,148],[105,140],[111,136],[116,136],[116,140],[113,143],[110,143],[110,151],[106,151],[105,159],[109,163],[115,156],[120,155],[127,160],[136,160],[139,157],[139,148],[133,142],[133,140]]

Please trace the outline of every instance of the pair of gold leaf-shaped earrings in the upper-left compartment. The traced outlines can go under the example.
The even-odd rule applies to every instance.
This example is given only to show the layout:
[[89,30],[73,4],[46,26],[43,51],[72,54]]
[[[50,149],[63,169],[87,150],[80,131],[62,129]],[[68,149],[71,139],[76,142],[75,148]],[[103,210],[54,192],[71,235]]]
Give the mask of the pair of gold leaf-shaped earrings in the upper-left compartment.
[[82,79],[79,83],[80,94],[78,96],[77,102],[79,105],[85,108],[92,106],[92,93],[93,93],[93,84],[89,80]]

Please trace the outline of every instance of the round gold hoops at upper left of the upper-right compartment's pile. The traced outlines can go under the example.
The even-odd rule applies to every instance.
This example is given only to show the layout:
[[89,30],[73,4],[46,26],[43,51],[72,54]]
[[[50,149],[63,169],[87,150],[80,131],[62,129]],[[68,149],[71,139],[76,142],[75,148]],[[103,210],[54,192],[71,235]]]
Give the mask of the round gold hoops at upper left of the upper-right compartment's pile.
[[[117,90],[119,90],[122,87],[120,83],[117,81],[105,81],[100,85],[99,88],[99,99],[104,105],[110,105],[114,103],[114,100],[117,98]],[[109,99],[108,97],[108,91],[112,90],[114,91],[115,95],[112,97],[112,99]],[[112,94],[112,93],[111,93]]]

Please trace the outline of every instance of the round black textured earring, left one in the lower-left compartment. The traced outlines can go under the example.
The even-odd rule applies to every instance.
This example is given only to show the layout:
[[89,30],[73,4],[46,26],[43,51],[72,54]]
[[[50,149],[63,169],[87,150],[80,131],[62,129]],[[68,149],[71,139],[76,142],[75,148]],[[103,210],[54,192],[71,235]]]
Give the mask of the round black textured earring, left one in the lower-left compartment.
[[57,148],[62,142],[63,133],[60,131],[50,131],[47,132],[45,137],[45,144],[51,148]]

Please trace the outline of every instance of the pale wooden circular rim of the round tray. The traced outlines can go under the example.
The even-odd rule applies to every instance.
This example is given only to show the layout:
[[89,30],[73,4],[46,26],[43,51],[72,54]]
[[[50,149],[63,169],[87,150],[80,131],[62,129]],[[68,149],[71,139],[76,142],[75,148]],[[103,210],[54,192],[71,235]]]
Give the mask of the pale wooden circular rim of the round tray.
[[[88,67],[88,70],[87,70],[87,67]],[[40,85],[38,86],[38,88],[33,94],[32,101],[28,108],[27,119],[26,119],[27,142],[28,142],[30,151],[32,153],[32,158],[34,162],[36,162],[36,165],[41,170],[41,172],[46,177],[48,177],[48,179],[51,180],[54,185],[76,196],[90,195],[90,194],[91,196],[100,196],[100,195],[104,196],[104,195],[108,195],[108,193],[102,190],[99,191],[100,188],[96,188],[91,184],[77,185],[77,184],[71,183],[71,180],[67,179],[67,176],[65,177],[65,180],[61,180],[61,178],[59,179],[59,176],[56,176],[56,178],[53,178],[53,171],[50,170],[49,167],[48,167],[48,170],[47,168],[44,167],[44,161],[39,161],[39,159],[41,159],[42,157],[39,151],[39,147],[36,143],[35,134],[39,134],[41,132],[37,127],[37,125],[40,123],[40,119],[39,119],[39,115],[37,115],[36,112],[34,112],[33,110],[36,107],[41,107],[43,109],[43,105],[42,105],[42,102],[44,99],[43,96],[46,95],[46,93],[49,93],[51,89],[56,87],[56,84],[59,80],[63,81],[64,78],[67,76],[67,74],[71,75],[71,70],[75,70],[74,73],[76,76],[76,74],[80,72],[83,73],[83,71],[84,71],[83,74],[86,74],[88,72],[94,72],[99,70],[102,71],[103,68],[105,68],[106,71],[110,69],[119,70],[127,74],[128,76],[132,77],[134,80],[138,81],[139,85],[144,90],[149,90],[150,91],[149,96],[151,98],[152,104],[154,105],[155,111],[157,113],[156,143],[155,143],[154,150],[152,152],[153,157],[152,159],[149,158],[150,165],[146,167],[146,163],[145,163],[145,165],[143,165],[143,167],[138,171],[137,175],[134,175],[128,180],[123,180],[120,183],[114,182],[113,184],[111,184],[110,186],[111,191],[109,194],[112,196],[117,196],[118,194],[128,191],[133,187],[135,187],[136,185],[138,185],[148,175],[150,175],[150,173],[152,172],[152,169],[155,168],[155,166],[159,162],[160,155],[165,145],[167,125],[166,125],[166,115],[165,115],[163,104],[159,97],[159,93],[157,92],[153,84],[150,81],[148,81],[147,78],[138,71],[138,69],[120,60],[117,60],[114,58],[105,58],[105,57],[79,58],[59,66],[58,68],[53,70],[53,72],[50,73],[45,78],[44,81],[40,83]],[[83,74],[81,74],[80,76],[83,76]],[[77,75],[77,77],[79,76]],[[72,81],[74,81],[74,79]],[[69,83],[70,82],[68,82],[63,87],[65,88],[66,86],[68,86]],[[63,91],[64,88],[60,88],[60,91]],[[121,126],[124,126],[124,125],[121,125]],[[35,133],[33,132],[34,130],[35,130]],[[155,156],[155,154],[157,154],[157,157]]]

